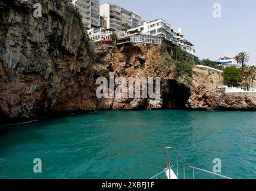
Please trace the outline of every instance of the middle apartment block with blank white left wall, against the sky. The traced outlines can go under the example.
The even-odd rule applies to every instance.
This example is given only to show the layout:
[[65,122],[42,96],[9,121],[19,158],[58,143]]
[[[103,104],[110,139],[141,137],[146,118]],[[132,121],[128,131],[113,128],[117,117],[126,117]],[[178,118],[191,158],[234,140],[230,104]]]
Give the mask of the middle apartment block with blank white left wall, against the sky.
[[144,20],[138,14],[128,11],[115,4],[100,5],[100,16],[105,16],[107,28],[123,30],[123,24],[127,23],[128,29],[138,27]]

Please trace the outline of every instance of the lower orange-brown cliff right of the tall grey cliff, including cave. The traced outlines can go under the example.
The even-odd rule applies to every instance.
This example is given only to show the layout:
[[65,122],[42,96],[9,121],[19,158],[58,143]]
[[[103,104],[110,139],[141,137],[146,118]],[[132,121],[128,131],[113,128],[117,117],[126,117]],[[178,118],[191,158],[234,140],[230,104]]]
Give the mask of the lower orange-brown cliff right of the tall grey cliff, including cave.
[[117,47],[97,45],[95,73],[108,78],[109,72],[126,79],[131,76],[161,77],[161,99],[106,98],[97,102],[98,109],[193,109],[193,110],[255,110],[254,93],[225,93],[221,73],[193,67],[193,76],[185,81],[173,77],[174,66],[164,67],[163,59],[172,56],[164,45],[127,44]]

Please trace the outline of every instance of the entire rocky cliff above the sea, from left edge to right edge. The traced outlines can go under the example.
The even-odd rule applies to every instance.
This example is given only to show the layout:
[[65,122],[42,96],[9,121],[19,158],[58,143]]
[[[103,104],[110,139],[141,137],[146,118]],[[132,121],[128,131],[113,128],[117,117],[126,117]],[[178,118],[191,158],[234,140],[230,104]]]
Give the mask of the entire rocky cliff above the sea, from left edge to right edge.
[[[1,123],[93,110],[256,109],[254,94],[216,90],[220,73],[193,68],[185,81],[173,77],[165,45],[91,44],[80,14],[68,1],[0,2]],[[161,98],[97,98],[97,77],[161,77]]]

